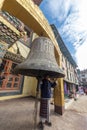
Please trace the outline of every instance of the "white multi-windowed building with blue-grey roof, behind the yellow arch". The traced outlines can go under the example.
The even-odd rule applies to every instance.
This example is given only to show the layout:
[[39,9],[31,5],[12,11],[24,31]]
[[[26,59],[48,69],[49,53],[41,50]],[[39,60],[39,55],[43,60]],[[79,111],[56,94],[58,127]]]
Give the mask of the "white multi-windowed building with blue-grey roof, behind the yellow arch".
[[68,51],[67,47],[65,46],[57,28],[55,25],[51,25],[55,38],[58,42],[60,51],[62,53],[62,69],[65,73],[64,78],[64,93],[68,95],[70,91],[78,87],[78,75],[77,75],[77,65],[73,60],[70,52]]

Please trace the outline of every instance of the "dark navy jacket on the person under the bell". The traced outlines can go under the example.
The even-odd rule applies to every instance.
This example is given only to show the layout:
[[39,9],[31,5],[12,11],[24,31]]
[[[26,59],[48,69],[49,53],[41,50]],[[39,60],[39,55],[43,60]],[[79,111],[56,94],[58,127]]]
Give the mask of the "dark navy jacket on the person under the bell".
[[41,98],[51,98],[51,87],[55,87],[56,82],[52,83],[47,79],[42,80],[41,84]]

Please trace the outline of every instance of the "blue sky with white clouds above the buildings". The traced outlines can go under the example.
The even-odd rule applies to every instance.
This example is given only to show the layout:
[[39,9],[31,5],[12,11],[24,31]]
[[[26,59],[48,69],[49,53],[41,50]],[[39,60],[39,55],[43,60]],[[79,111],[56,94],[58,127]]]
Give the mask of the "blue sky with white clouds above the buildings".
[[87,68],[87,0],[43,0],[40,8],[58,31],[80,70]]

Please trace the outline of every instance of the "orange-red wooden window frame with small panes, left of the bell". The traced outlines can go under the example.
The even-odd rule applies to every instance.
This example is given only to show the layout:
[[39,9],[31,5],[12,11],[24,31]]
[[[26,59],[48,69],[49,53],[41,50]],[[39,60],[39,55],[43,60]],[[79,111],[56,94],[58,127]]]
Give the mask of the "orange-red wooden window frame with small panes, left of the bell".
[[3,60],[3,65],[4,69],[1,73],[5,78],[0,81],[0,91],[20,90],[22,76],[13,73],[13,69],[17,64],[11,60]]

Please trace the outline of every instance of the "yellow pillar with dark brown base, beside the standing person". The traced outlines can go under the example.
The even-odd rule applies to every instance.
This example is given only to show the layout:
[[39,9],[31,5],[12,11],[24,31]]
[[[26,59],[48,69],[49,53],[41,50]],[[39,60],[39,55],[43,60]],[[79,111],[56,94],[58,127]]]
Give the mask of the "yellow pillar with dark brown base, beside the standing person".
[[63,78],[58,79],[58,85],[54,89],[54,111],[60,115],[63,115],[63,113],[64,113]]

